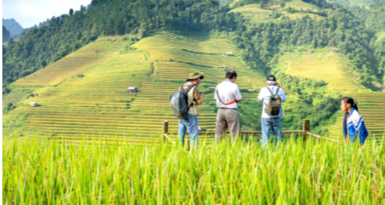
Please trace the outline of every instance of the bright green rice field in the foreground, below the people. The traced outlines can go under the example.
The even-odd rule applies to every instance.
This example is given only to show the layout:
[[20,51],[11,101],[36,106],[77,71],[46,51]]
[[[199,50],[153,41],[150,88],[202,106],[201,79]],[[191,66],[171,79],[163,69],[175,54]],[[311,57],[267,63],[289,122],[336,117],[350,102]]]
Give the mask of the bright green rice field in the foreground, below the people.
[[[118,142],[117,142],[118,141]],[[3,204],[384,204],[385,147],[294,136],[148,146],[17,138],[3,144]]]

